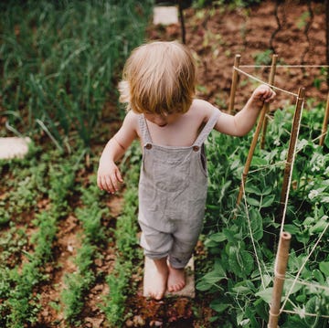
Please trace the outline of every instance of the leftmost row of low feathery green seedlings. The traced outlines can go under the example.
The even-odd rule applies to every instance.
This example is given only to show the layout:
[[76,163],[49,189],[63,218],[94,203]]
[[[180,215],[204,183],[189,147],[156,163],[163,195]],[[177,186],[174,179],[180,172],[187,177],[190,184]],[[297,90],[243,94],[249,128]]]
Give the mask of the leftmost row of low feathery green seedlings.
[[[39,192],[48,191],[49,205],[48,209],[38,211],[37,204],[35,206],[37,213],[33,220],[33,224],[37,227],[36,232],[28,238],[28,243],[33,245],[33,249],[26,251],[23,249],[24,243],[20,245],[19,251],[23,253],[24,259],[16,261],[15,267],[12,270],[6,270],[0,267],[0,272],[5,273],[2,295],[3,302],[1,312],[3,315],[2,322],[4,326],[24,327],[26,323],[33,324],[37,322],[37,312],[40,310],[38,295],[34,291],[37,284],[47,279],[44,274],[44,265],[51,260],[53,250],[53,241],[56,238],[58,218],[67,210],[67,197],[73,189],[75,173],[79,168],[79,162],[76,156],[72,156],[68,160],[59,159],[60,153],[49,153],[48,158],[58,160],[58,164],[49,164],[47,156],[43,157],[45,162],[37,164],[37,159],[33,161],[23,161],[12,163],[12,174],[18,176],[19,172],[23,172],[24,184],[19,185],[19,179],[14,180],[14,183],[8,180],[8,185],[16,186],[13,189],[13,195],[21,197],[23,206],[25,206],[24,197],[27,197],[27,204],[31,202],[30,191],[33,195],[38,195]],[[77,154],[79,158],[79,153]],[[54,167],[56,166],[56,170]],[[22,171],[22,167],[24,170]],[[35,174],[35,175],[31,175]],[[27,179],[28,176],[30,178]],[[48,176],[50,175],[50,176]],[[60,176],[60,184],[58,177]],[[27,182],[26,182],[27,181]],[[48,185],[48,188],[45,186]],[[24,185],[27,192],[22,192],[20,186]],[[28,186],[28,188],[27,188]],[[35,189],[33,189],[35,188]],[[19,194],[17,194],[19,193]],[[37,200],[37,196],[36,199]],[[8,198],[9,206],[15,206],[16,197]],[[64,205],[64,206],[63,206]],[[28,208],[28,207],[24,207]],[[18,212],[20,213],[20,212]],[[22,214],[23,215],[23,214]],[[21,234],[21,229],[12,226],[13,234]],[[9,233],[7,237],[9,237]],[[14,239],[15,240],[15,239]],[[14,241],[12,240],[12,242]],[[11,249],[13,251],[13,249]],[[7,291],[6,286],[10,286],[10,291]],[[4,288],[4,289],[3,289]]]

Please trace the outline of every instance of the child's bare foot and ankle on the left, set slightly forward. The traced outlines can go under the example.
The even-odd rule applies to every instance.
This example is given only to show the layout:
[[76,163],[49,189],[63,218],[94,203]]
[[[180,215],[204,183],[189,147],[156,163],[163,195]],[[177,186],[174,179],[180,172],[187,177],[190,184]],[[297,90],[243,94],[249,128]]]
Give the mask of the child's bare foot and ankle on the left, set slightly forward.
[[147,281],[147,294],[155,300],[161,300],[166,291],[168,266],[166,264],[166,259],[154,259],[154,264],[156,267],[154,279],[152,281]]

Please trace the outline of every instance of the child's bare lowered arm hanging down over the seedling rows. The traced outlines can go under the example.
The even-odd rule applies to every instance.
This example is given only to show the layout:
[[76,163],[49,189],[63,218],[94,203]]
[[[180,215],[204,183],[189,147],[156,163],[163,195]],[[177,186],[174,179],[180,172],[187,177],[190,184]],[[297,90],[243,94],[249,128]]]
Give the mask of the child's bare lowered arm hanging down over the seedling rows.
[[136,137],[136,117],[133,112],[129,112],[120,130],[106,144],[101,153],[97,173],[97,185],[101,190],[106,190],[109,193],[119,190],[119,184],[123,182],[123,179],[115,162],[122,157]]

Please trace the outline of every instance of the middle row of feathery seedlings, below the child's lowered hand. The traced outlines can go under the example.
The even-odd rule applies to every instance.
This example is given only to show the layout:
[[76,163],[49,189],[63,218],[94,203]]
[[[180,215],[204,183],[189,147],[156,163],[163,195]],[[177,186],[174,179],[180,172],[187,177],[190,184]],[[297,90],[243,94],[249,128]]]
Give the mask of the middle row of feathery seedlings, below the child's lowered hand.
[[80,326],[80,313],[84,298],[97,278],[94,260],[108,245],[101,219],[109,217],[109,208],[101,206],[101,191],[96,184],[96,175],[90,175],[90,185],[78,185],[81,206],[75,208],[83,234],[80,235],[80,248],[74,258],[77,270],[65,277],[66,289],[62,291],[64,317],[68,323]]

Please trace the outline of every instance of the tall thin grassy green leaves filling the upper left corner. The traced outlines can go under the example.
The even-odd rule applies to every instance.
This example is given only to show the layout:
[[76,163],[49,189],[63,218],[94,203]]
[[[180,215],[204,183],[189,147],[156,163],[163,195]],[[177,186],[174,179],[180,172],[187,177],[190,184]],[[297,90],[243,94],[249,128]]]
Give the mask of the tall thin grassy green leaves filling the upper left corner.
[[[7,126],[86,147],[122,61],[143,41],[152,1],[1,4],[0,97]],[[23,124],[24,122],[24,124]],[[24,131],[22,131],[24,129]]]

